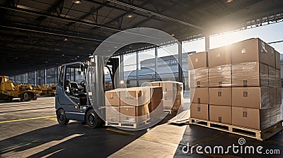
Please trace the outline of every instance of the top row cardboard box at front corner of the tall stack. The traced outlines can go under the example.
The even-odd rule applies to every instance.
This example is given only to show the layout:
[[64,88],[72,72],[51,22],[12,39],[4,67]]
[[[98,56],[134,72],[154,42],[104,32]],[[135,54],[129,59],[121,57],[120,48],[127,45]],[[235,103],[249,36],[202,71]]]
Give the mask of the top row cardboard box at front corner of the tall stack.
[[247,39],[231,45],[232,64],[260,62],[269,64],[267,44],[259,38]]

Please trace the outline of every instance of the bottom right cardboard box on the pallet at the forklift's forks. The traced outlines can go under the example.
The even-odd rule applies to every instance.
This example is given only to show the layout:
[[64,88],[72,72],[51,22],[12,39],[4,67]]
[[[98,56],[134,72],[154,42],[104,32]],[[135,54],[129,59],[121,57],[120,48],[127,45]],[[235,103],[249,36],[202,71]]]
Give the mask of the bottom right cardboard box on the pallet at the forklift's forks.
[[139,123],[149,119],[148,105],[120,107],[121,123]]

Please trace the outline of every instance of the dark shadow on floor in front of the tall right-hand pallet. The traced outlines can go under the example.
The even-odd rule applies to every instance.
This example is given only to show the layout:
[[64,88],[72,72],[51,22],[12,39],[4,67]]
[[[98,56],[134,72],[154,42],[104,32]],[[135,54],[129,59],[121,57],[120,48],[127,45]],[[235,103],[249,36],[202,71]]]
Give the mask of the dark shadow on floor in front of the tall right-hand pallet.
[[[244,138],[246,143],[243,145],[238,144],[238,140],[240,138]],[[193,152],[191,150],[187,154],[187,143],[189,143],[190,148],[195,145]],[[214,147],[216,146],[224,147],[224,154],[207,154],[204,152],[204,148],[209,146],[212,148],[212,152],[214,152]],[[238,146],[238,153],[233,152],[233,145]],[[252,138],[246,138],[241,135],[233,135],[226,132],[221,132],[219,130],[204,128],[197,125],[188,125],[186,127],[185,133],[183,135],[183,139],[180,141],[177,151],[175,152],[174,157],[282,157],[283,153],[283,131],[277,133],[276,135],[272,136],[271,138],[265,141],[259,141]],[[185,146],[185,148],[184,148]],[[196,147],[201,146],[202,151],[204,154],[197,154]],[[231,148],[229,148],[231,146]],[[255,149],[255,154],[249,154],[248,148],[246,146],[253,146]],[[262,146],[262,154],[257,154],[256,147]],[[209,152],[209,147],[207,147],[207,151]],[[227,149],[229,148],[229,152],[225,154]],[[241,152],[241,148],[243,149]],[[280,154],[266,154],[268,152],[266,150],[272,150],[272,152],[278,152]],[[277,151],[275,151],[277,150]],[[216,148],[216,153],[218,149]],[[221,153],[221,152],[220,152]],[[241,154],[242,153],[242,154]],[[248,153],[248,154],[246,154]],[[265,153],[265,154],[263,154]]]

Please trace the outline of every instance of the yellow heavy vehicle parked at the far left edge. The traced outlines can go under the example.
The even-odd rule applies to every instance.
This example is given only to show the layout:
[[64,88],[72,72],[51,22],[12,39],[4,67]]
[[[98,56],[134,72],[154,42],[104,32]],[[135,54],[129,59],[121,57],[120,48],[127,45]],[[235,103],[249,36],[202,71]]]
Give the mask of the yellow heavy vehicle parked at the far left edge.
[[13,98],[20,98],[21,101],[37,99],[33,87],[30,85],[15,85],[13,81],[8,80],[8,76],[0,75],[0,99],[11,102]]

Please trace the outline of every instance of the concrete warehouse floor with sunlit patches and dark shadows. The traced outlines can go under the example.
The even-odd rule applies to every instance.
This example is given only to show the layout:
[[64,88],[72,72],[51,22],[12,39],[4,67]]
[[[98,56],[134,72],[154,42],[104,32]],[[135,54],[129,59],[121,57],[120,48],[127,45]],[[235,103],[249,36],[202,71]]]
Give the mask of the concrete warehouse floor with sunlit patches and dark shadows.
[[[224,147],[238,145],[232,135],[195,125],[167,123],[167,116],[147,130],[126,131],[112,127],[91,129],[78,121],[59,126],[54,115],[54,97],[30,102],[0,103],[1,157],[266,157],[253,154],[183,153],[184,145]],[[260,142],[250,138],[246,145],[262,145],[283,153],[283,132]],[[268,155],[282,157],[282,154]]]

